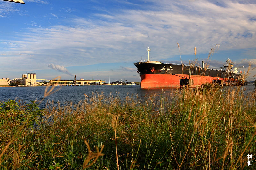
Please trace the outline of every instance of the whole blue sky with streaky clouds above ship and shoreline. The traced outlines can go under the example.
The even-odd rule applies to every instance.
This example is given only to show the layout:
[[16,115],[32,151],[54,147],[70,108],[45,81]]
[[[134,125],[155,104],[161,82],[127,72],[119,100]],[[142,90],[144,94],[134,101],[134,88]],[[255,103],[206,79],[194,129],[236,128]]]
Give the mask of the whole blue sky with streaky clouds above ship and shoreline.
[[147,58],[148,46],[151,61],[180,63],[181,53],[188,64],[206,60],[220,44],[211,67],[227,58],[244,65],[242,71],[256,66],[254,0],[24,2],[0,0],[0,78],[36,73],[40,79],[140,81],[133,63]]

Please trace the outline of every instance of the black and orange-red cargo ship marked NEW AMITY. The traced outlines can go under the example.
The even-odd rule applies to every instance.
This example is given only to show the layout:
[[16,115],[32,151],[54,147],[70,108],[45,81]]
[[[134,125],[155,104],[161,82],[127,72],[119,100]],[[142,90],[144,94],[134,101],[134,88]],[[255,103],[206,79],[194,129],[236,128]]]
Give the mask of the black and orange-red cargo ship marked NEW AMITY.
[[147,51],[148,59],[134,63],[140,74],[141,88],[199,87],[204,83],[236,85],[242,82],[242,71],[238,73],[238,67],[233,69],[229,58],[222,67],[209,69],[204,61],[201,66],[150,61],[149,47]]

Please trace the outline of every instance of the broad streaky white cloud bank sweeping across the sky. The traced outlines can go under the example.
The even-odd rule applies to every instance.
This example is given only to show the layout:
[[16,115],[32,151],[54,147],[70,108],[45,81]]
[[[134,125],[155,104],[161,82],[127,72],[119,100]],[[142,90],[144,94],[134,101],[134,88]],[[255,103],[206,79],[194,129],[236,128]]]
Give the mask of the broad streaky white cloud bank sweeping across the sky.
[[[138,61],[148,46],[154,59],[167,60],[179,55],[177,42],[181,55],[193,55],[195,46],[198,55],[208,53],[218,43],[219,53],[240,50],[252,58],[256,51],[255,9],[255,3],[238,1],[152,1],[138,10],[109,10],[86,18],[74,17],[65,24],[28,28],[21,35],[17,33],[15,41],[4,40],[9,48],[1,53],[12,57],[24,54],[16,60],[20,68],[26,66],[24,60],[35,68],[48,63],[77,66]],[[0,14],[12,10],[17,9],[0,7]]]

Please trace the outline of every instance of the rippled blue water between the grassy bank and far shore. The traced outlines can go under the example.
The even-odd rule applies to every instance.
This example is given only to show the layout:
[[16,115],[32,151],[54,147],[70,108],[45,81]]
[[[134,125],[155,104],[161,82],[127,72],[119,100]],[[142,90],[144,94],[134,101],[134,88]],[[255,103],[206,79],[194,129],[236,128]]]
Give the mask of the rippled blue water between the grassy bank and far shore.
[[[30,100],[41,100],[44,97],[45,86],[38,87],[0,87],[0,101],[5,101],[12,99],[18,101],[23,100],[23,102],[29,102]],[[160,96],[161,94],[168,95],[173,89],[141,89],[140,85],[87,85],[87,86],[56,86],[54,90],[61,88],[59,91],[46,97],[40,108],[45,107],[47,100],[60,102],[60,105],[64,105],[67,101],[72,101],[73,103],[78,103],[80,100],[84,100],[84,94],[92,96],[92,92],[104,92],[104,95],[108,97],[110,94],[115,97],[116,92],[120,100],[125,100],[126,96],[135,97],[137,94],[141,99],[148,97],[149,95]],[[226,87],[227,88],[227,87]],[[228,87],[236,88],[236,87]],[[243,87],[246,93],[254,90],[254,85],[246,85]],[[48,90],[51,87],[48,88]]]

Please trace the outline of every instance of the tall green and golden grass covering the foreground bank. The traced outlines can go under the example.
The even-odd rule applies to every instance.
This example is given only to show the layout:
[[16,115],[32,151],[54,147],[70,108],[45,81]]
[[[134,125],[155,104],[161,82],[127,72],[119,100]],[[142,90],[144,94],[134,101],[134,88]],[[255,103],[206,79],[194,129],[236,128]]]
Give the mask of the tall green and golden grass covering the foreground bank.
[[1,102],[0,169],[256,169],[254,93],[205,86],[113,96],[45,109]]

